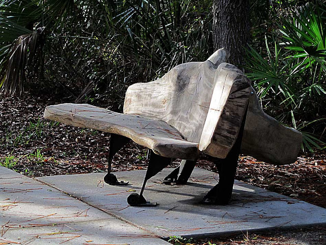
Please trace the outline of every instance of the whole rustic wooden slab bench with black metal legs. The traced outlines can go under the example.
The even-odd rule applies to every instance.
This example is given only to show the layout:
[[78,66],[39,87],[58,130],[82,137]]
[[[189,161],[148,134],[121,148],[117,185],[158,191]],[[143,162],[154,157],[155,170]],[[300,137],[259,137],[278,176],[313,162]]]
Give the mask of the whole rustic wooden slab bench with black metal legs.
[[111,161],[130,139],[150,149],[142,190],[127,199],[132,206],[156,205],[143,196],[146,182],[172,159],[183,160],[165,182],[185,184],[200,151],[213,157],[219,171],[219,184],[203,203],[227,204],[240,152],[288,164],[296,160],[302,142],[300,132],[262,111],[250,80],[225,63],[228,57],[222,48],[204,62],[181,64],[161,79],[131,85],[123,114],[88,104],[60,104],[46,107],[44,117],[111,133],[104,177],[108,184],[127,184],[111,173]]

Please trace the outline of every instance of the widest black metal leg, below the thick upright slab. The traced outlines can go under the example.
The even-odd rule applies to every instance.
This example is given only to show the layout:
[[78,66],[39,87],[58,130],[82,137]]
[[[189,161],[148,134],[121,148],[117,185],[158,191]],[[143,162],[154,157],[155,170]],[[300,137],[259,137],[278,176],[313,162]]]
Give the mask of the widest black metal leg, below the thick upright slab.
[[244,113],[238,137],[228,156],[225,159],[217,158],[214,161],[219,172],[219,183],[205,195],[204,199],[202,200],[203,204],[227,205],[232,197],[234,178],[236,167],[238,165],[246,116],[247,110],[246,113]]

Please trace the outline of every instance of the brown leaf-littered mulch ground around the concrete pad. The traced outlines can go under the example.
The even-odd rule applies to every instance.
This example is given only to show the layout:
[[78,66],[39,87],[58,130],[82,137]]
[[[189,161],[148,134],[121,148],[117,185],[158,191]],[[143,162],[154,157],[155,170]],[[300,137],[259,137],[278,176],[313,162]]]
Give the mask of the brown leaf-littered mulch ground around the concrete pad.
[[[43,119],[45,106],[58,103],[0,94],[0,164],[32,177],[106,171],[109,135]],[[145,148],[129,143],[113,159],[113,170],[146,169],[146,155]],[[197,166],[216,171],[205,156]],[[326,151],[302,153],[295,163],[284,166],[241,156],[236,179],[326,208]],[[242,238],[241,242],[247,242]],[[258,238],[252,243],[220,244],[283,244],[257,243]]]

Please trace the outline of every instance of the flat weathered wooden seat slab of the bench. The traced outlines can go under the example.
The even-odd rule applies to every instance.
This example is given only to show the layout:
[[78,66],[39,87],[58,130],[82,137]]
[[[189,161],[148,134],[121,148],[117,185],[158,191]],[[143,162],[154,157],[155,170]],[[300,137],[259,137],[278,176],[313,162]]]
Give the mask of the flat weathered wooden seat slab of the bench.
[[47,106],[44,118],[123,135],[160,156],[197,159],[198,143],[184,140],[178,130],[159,119],[116,113],[88,104]]

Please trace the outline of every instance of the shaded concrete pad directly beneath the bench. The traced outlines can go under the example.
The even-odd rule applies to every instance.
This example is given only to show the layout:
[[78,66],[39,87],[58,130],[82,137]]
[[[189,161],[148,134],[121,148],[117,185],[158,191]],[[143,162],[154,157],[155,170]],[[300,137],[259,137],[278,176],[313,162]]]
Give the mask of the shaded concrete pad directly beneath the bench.
[[147,183],[144,196],[157,207],[131,207],[127,197],[140,192],[145,170],[115,173],[127,186],[103,183],[105,173],[51,176],[40,180],[106,212],[143,227],[160,237],[203,237],[250,230],[304,227],[326,224],[326,209],[285,197],[240,181],[235,182],[230,205],[200,205],[218,176],[195,168],[187,185],[164,185],[160,181],[172,169],[164,169]]

